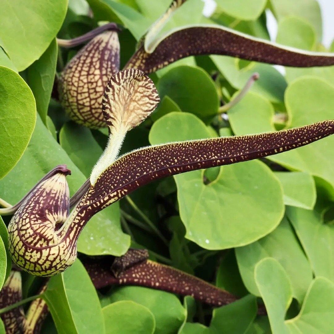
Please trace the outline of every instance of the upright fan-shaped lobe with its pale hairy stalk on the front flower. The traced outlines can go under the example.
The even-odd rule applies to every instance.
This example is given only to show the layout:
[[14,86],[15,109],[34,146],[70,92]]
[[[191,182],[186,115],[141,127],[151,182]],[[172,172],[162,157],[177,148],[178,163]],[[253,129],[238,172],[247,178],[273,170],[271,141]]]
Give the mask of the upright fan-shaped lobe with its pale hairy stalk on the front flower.
[[159,101],[153,81],[139,69],[119,71],[110,78],[102,100],[109,140],[93,168],[91,184],[116,160],[126,133],[151,115]]

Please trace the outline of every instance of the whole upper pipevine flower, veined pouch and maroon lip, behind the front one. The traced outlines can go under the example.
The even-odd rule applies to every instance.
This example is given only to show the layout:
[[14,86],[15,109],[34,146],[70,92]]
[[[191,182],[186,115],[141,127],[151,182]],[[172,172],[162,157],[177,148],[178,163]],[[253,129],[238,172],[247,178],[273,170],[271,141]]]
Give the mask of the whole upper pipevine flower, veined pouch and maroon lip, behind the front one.
[[[191,55],[218,54],[270,64],[311,67],[334,64],[333,53],[309,52],[255,38],[216,24],[184,26],[164,33],[163,28],[186,0],[175,0],[141,38],[124,69],[153,73]],[[112,31],[108,31],[111,29]],[[101,33],[102,30],[107,30]],[[60,101],[68,116],[90,128],[105,127],[102,96],[111,75],[119,70],[116,25],[110,23],[71,41],[71,47],[95,36],[67,64],[59,80]],[[101,34],[99,34],[101,33]]]

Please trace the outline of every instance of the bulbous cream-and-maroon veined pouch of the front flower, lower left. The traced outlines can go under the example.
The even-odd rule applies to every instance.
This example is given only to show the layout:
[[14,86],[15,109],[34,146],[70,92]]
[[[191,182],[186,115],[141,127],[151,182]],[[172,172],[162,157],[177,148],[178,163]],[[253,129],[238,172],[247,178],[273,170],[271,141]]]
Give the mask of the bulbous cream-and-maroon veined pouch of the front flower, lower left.
[[8,248],[14,263],[32,275],[48,276],[65,270],[76,258],[62,225],[69,214],[66,166],[58,166],[38,183],[8,225]]

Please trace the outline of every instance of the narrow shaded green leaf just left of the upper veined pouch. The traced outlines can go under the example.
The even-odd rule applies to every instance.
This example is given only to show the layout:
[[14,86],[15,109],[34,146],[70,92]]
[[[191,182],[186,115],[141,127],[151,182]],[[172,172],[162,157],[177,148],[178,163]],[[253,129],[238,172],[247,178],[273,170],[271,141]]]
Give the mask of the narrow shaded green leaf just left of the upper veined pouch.
[[36,100],[37,112],[44,124],[56,72],[57,53],[57,42],[54,39],[41,57],[27,70],[28,84]]

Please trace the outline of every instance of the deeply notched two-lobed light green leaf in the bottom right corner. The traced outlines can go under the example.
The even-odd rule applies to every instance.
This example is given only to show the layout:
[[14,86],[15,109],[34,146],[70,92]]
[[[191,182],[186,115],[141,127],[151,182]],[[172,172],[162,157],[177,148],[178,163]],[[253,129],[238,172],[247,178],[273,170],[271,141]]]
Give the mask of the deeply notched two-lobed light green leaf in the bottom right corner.
[[261,260],[255,280],[265,302],[273,334],[332,333],[334,327],[334,284],[319,277],[312,281],[299,314],[284,320],[292,301],[290,280],[272,258]]

